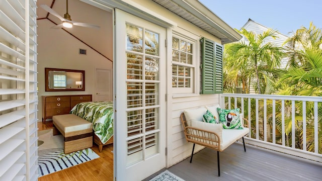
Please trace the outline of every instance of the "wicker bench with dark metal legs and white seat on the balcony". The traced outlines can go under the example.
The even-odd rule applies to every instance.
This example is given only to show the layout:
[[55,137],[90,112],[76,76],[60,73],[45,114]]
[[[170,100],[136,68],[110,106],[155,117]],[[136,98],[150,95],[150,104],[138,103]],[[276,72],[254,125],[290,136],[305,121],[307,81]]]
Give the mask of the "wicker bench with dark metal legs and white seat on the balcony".
[[[220,164],[219,164],[219,152],[226,149],[235,141],[243,138],[244,151],[246,152],[244,136],[249,133],[249,128],[244,129],[222,129],[221,125],[205,125],[201,124],[202,121],[195,121],[193,123],[202,125],[197,128],[195,125],[188,125],[185,114],[181,113],[180,120],[184,129],[184,134],[188,142],[193,143],[190,163],[195,149],[195,144],[205,146],[207,148],[217,151],[217,164],[218,164],[218,176],[220,176]],[[248,122],[247,119],[243,118],[244,121]],[[210,126],[213,126],[210,129]],[[246,126],[246,125],[245,125]],[[219,128],[219,129],[218,129]]]

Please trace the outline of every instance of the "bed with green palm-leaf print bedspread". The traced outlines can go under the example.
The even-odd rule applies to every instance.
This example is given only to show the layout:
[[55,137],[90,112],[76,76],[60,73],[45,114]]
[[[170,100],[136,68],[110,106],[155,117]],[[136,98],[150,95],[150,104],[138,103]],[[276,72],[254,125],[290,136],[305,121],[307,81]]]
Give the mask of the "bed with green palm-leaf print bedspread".
[[100,152],[113,143],[113,101],[78,103],[70,113],[93,123],[94,143]]

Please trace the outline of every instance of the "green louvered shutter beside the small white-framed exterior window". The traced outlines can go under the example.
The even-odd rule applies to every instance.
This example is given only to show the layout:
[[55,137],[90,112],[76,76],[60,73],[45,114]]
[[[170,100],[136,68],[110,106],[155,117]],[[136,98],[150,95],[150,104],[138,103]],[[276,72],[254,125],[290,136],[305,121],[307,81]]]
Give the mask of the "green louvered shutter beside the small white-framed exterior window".
[[221,94],[223,46],[202,38],[202,88],[201,94]]

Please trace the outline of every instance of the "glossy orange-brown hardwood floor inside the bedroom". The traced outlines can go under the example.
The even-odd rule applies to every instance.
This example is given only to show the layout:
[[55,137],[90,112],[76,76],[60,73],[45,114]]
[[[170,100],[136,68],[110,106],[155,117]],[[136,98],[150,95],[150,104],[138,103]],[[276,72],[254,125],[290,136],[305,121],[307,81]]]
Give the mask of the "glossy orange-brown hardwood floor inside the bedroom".
[[[46,124],[38,122],[38,129],[52,129],[52,121],[46,121]],[[113,144],[104,146],[102,153],[94,143],[91,148],[100,158],[41,176],[38,180],[113,180]]]

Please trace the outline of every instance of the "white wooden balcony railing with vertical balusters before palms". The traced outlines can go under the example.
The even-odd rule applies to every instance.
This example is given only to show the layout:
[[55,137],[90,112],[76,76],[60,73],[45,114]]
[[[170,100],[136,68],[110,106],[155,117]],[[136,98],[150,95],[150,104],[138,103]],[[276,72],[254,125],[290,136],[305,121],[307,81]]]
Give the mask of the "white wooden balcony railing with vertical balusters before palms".
[[322,162],[322,97],[222,94],[221,106],[249,120],[247,143]]

